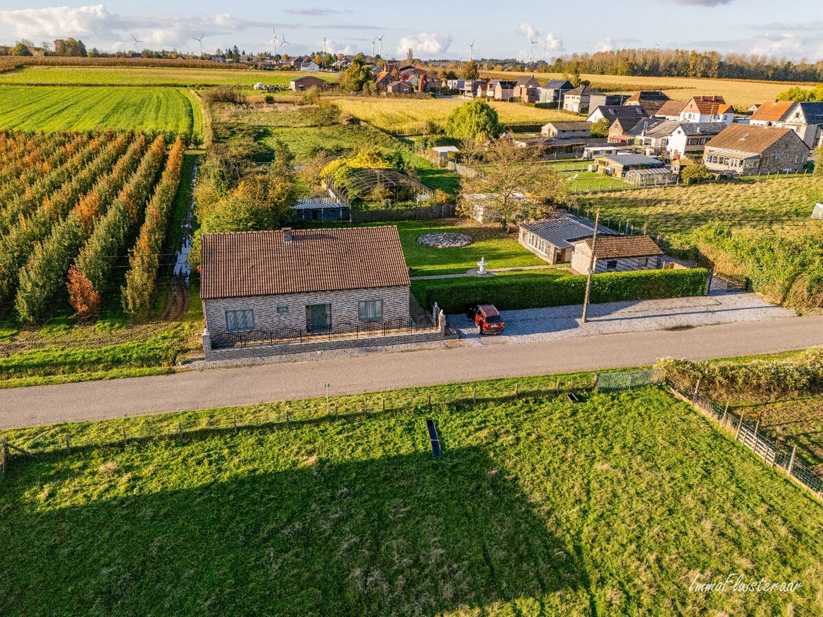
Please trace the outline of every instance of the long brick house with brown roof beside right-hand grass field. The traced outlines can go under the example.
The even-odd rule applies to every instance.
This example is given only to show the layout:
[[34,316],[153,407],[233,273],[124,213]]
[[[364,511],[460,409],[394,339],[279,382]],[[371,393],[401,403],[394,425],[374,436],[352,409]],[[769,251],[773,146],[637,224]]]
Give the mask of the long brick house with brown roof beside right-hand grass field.
[[705,145],[703,162],[723,174],[774,174],[799,171],[809,149],[790,128],[732,124]]

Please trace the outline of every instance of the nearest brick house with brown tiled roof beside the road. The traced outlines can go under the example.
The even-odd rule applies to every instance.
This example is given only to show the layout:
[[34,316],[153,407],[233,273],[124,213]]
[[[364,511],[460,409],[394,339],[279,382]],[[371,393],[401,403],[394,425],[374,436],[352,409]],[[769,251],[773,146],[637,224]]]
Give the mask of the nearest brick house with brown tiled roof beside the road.
[[408,324],[410,281],[394,225],[204,234],[204,347]]

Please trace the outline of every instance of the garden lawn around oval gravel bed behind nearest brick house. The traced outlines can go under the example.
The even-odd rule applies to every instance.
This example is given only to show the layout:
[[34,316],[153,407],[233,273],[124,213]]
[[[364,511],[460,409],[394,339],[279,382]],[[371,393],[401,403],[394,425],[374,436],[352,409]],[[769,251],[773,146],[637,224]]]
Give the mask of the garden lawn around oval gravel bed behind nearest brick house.
[[[545,266],[546,262],[518,244],[517,237],[499,227],[481,226],[469,220],[404,220],[398,232],[412,276],[460,274],[477,267],[486,257],[490,268]],[[445,232],[467,234],[474,239],[463,248],[428,248],[417,244],[421,235]]]

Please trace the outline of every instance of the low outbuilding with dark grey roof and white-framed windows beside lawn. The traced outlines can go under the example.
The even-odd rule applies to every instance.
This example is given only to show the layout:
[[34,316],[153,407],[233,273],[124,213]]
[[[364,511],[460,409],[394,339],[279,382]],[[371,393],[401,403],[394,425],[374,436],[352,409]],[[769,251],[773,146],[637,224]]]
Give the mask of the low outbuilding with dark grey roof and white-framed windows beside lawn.
[[[591,238],[594,223],[580,216],[561,212],[555,218],[520,225],[518,242],[552,265],[571,262],[574,242]],[[604,225],[597,228],[597,237],[619,235]]]

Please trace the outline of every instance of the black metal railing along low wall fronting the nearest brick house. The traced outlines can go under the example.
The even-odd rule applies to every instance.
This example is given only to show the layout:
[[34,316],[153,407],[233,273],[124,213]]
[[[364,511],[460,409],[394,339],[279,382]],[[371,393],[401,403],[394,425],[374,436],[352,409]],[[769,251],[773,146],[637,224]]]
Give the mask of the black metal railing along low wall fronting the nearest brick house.
[[330,327],[295,328],[277,330],[248,330],[245,332],[221,332],[212,334],[212,349],[249,347],[258,345],[288,345],[318,341],[371,338],[436,332],[437,326],[418,326],[409,319],[387,319],[383,322],[342,322]]

